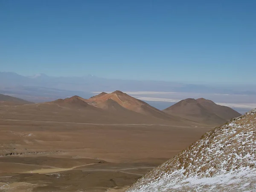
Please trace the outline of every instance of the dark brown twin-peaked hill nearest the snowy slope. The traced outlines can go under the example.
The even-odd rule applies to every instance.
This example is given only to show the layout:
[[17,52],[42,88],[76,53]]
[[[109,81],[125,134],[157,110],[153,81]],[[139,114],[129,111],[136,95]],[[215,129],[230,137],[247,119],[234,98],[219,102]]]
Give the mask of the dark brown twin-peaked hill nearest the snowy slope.
[[217,105],[204,98],[184,99],[163,111],[191,121],[216,125],[241,116],[240,113],[229,107]]

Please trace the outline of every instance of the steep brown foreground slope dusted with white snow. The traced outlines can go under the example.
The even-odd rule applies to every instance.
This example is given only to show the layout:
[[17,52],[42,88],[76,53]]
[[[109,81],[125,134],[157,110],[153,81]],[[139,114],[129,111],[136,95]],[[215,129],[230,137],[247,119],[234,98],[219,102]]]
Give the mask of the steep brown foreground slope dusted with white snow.
[[256,109],[207,132],[127,192],[256,191]]

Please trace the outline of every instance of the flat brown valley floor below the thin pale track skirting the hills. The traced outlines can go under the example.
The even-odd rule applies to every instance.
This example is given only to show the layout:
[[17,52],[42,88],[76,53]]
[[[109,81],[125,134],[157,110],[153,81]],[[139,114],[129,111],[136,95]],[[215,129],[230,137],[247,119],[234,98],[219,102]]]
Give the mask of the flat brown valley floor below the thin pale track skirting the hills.
[[[130,186],[209,128],[0,120],[0,189],[99,191]],[[22,155],[18,155],[23,153]]]

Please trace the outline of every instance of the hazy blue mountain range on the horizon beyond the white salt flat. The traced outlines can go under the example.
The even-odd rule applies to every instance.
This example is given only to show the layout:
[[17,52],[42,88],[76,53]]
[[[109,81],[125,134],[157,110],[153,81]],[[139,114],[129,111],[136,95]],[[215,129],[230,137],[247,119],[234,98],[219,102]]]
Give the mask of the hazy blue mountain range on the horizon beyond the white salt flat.
[[[121,79],[105,79],[93,75],[85,75],[82,77],[51,77],[46,74],[37,74],[35,76],[21,76],[12,72],[0,72],[0,89],[5,87],[44,87],[50,89],[66,90],[66,91],[111,91],[125,90],[133,91],[172,91],[172,92],[200,92],[200,93],[222,93],[222,94],[251,94],[256,95],[252,91],[252,87],[248,90],[241,91],[233,88],[213,85],[200,84],[184,84],[169,81],[137,81],[137,80],[121,80]],[[222,87],[222,88],[220,88]],[[254,86],[256,88],[256,86]],[[12,89],[13,90],[13,89]],[[255,90],[255,89],[254,89]]]

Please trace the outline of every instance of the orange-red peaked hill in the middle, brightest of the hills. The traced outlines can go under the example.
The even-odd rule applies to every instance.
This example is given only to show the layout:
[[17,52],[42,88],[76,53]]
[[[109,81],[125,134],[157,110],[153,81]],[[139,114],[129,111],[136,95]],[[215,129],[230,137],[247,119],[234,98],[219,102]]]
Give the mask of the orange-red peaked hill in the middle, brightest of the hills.
[[160,111],[157,108],[148,105],[146,102],[143,102],[139,99],[135,99],[134,97],[129,96],[128,94],[123,93],[119,90],[116,90],[113,93],[102,94],[101,96],[98,95],[96,97],[87,99],[85,102],[91,105],[98,106],[99,108],[105,108],[105,104],[102,103],[106,102],[108,99],[111,99],[109,102],[113,103],[113,101],[115,101],[117,104],[121,105],[123,108],[128,109],[130,111],[134,111],[144,115],[154,116],[160,119],[180,120],[179,118],[170,116],[164,113],[163,111]]

